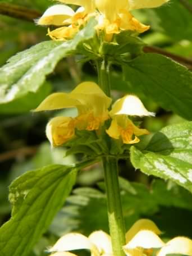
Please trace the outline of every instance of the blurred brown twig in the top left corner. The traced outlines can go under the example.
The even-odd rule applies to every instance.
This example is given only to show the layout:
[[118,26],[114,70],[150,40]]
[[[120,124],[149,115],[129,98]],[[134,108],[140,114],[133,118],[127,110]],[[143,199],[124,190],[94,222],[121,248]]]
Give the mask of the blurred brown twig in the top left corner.
[[0,3],[0,14],[30,22],[42,15],[39,11],[10,3]]

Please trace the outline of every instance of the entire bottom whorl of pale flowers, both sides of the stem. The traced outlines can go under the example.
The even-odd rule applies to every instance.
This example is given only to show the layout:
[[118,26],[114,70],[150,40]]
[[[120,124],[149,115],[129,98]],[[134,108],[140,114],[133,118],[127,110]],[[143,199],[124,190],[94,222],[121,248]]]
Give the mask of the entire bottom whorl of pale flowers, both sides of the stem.
[[[192,240],[187,237],[175,237],[164,243],[158,235],[161,231],[156,224],[147,219],[134,223],[126,233],[126,245],[123,250],[127,256],[152,255],[154,249],[159,249],[157,256],[166,254],[192,255]],[[86,237],[78,233],[62,236],[49,249],[51,256],[76,256],[69,251],[88,249],[92,256],[113,256],[111,237],[103,231],[95,231]],[[114,255],[115,256],[115,255]]]

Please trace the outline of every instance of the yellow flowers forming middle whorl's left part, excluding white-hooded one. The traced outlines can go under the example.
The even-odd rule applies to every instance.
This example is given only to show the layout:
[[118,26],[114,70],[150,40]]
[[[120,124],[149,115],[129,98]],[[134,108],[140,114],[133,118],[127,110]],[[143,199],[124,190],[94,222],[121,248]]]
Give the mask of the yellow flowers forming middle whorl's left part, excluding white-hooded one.
[[98,130],[100,125],[109,118],[108,107],[111,101],[111,98],[107,97],[97,84],[84,82],[71,93],[49,95],[34,111],[77,108],[79,115],[76,118],[59,116],[48,122],[46,134],[54,147],[73,138],[75,129]]

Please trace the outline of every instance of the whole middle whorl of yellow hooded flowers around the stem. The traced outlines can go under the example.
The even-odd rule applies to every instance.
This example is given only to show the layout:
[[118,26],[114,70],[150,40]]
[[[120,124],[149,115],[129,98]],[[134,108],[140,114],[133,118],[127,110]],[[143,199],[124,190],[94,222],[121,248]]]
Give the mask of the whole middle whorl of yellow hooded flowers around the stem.
[[121,139],[125,144],[138,143],[138,136],[149,132],[136,126],[128,116],[154,116],[154,113],[148,112],[134,95],[118,99],[108,111],[111,102],[97,84],[84,82],[71,93],[49,95],[34,111],[77,108],[75,118],[58,116],[48,122],[46,134],[53,147],[74,138],[76,130],[99,131],[108,119],[112,121],[106,132],[111,138]]

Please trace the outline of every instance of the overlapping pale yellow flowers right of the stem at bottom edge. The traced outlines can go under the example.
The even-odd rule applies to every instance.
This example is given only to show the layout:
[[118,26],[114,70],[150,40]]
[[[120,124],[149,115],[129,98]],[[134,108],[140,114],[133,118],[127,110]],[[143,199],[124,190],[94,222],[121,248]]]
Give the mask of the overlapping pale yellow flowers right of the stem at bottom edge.
[[153,249],[160,249],[157,256],[184,254],[192,256],[192,240],[187,237],[175,237],[164,244],[158,237],[161,231],[150,220],[136,221],[126,233],[126,245],[123,247],[127,256],[152,255]]

